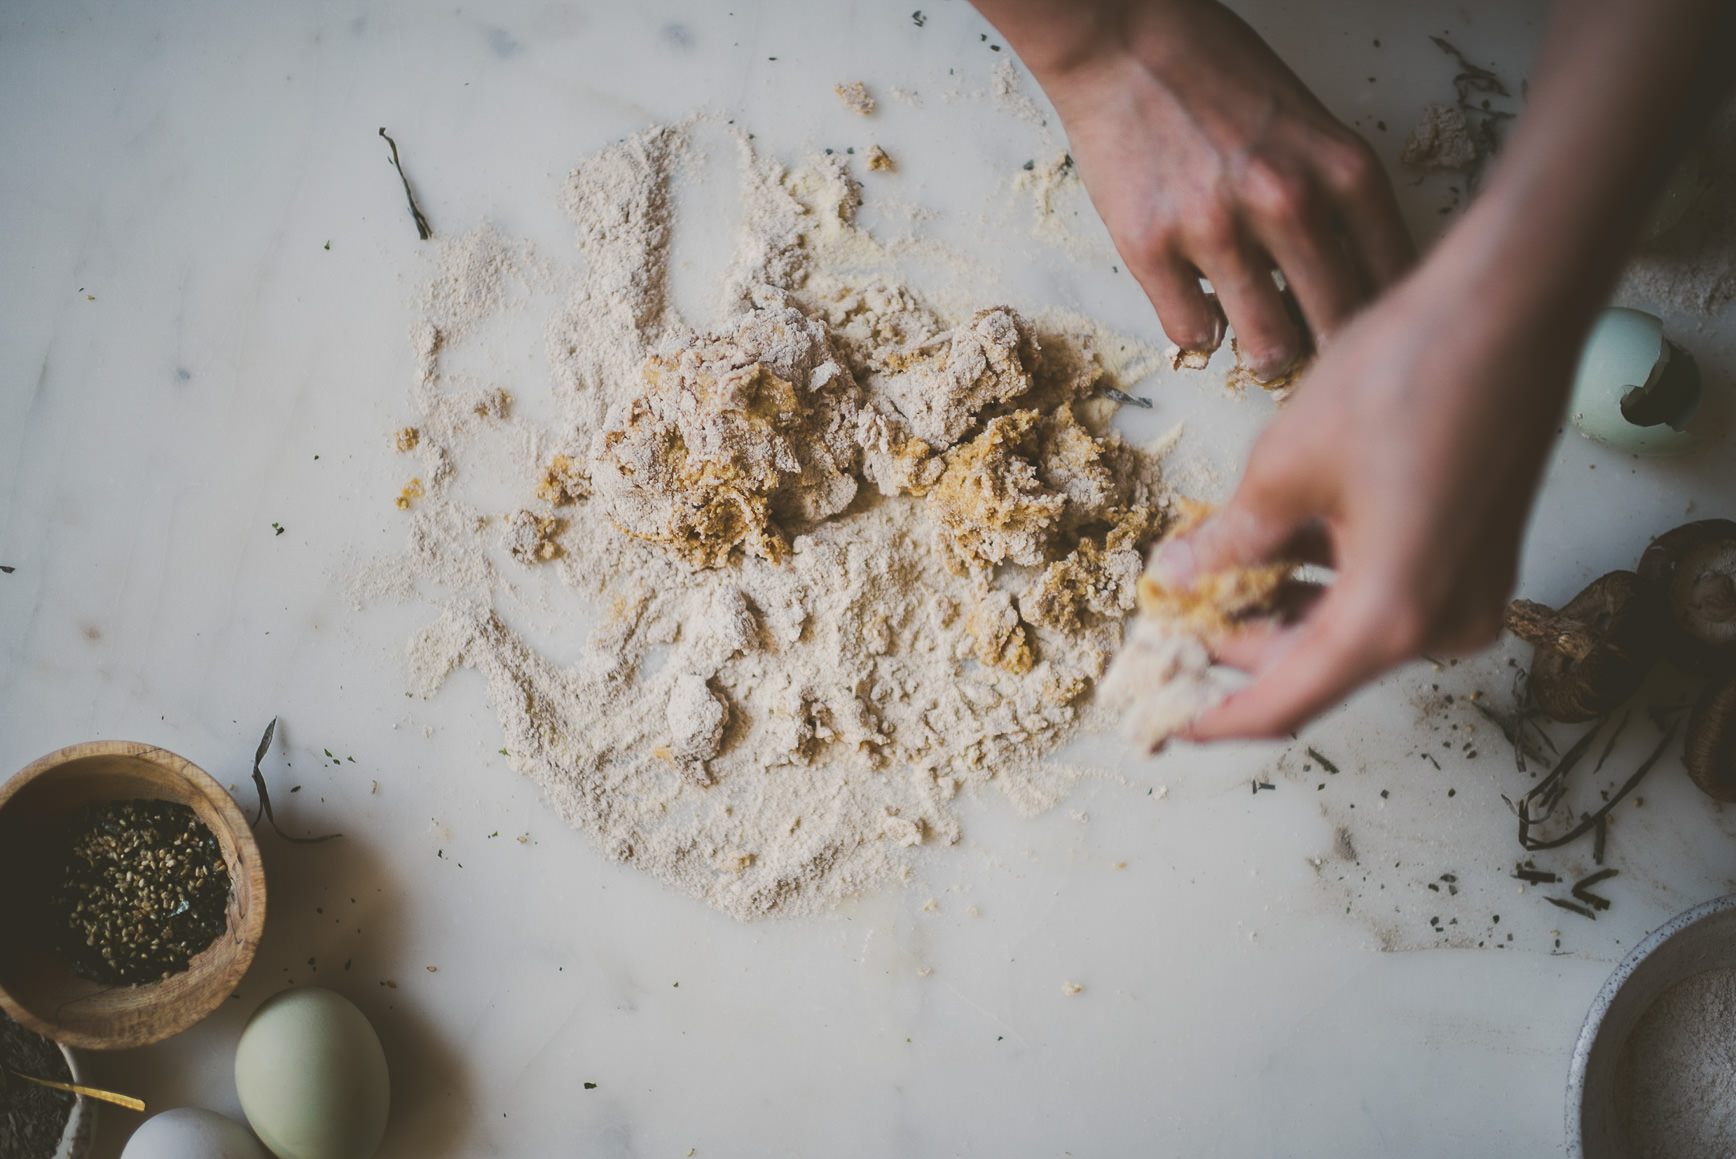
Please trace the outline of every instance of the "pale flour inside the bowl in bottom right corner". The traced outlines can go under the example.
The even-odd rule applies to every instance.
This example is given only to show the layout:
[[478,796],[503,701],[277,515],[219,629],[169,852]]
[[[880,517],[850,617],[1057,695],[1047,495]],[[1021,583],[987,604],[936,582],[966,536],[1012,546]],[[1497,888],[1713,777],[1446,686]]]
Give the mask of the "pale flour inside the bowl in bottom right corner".
[[1641,1015],[1616,1062],[1635,1159],[1736,1154],[1736,968],[1682,979]]

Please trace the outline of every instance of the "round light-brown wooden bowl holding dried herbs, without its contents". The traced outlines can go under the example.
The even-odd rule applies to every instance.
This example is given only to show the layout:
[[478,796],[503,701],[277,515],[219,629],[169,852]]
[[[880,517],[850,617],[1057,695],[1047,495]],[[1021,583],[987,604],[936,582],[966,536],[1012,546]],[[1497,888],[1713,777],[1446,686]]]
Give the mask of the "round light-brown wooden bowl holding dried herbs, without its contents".
[[[153,798],[193,809],[229,869],[226,930],[191,965],[146,985],[73,973],[43,920],[56,855],[45,852],[87,805]],[[122,1050],[186,1031],[247,973],[266,930],[266,871],[253,831],[220,784],[174,753],[90,741],[49,753],[0,786],[0,1006],[68,1046]]]

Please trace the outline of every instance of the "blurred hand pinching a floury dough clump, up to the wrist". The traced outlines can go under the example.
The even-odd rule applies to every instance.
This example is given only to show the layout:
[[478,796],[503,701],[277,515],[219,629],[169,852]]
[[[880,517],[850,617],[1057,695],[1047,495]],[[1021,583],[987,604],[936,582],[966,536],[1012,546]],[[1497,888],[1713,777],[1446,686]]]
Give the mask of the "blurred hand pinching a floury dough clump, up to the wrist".
[[1467,267],[1437,253],[1359,314],[1231,501],[1158,548],[1168,586],[1272,559],[1337,573],[1300,619],[1217,644],[1253,680],[1191,739],[1283,736],[1406,659],[1495,640],[1580,333],[1507,309]]

